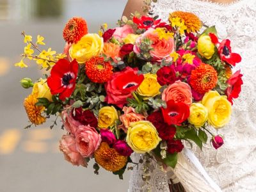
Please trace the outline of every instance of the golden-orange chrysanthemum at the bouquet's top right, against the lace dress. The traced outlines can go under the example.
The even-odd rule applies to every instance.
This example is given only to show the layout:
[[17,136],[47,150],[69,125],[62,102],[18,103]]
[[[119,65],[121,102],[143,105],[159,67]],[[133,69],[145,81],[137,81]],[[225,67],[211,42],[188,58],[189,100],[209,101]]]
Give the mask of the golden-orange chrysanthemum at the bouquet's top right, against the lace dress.
[[169,20],[172,18],[180,18],[184,20],[184,24],[187,27],[188,33],[199,31],[202,28],[201,20],[194,14],[190,12],[173,12],[170,13]]

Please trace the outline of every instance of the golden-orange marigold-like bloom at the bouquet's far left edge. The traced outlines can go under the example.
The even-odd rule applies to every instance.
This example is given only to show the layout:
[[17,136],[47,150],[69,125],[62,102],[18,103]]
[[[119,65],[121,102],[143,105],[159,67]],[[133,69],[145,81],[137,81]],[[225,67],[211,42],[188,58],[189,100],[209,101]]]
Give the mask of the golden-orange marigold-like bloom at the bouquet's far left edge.
[[30,122],[35,125],[40,125],[45,122],[45,117],[41,115],[42,111],[44,111],[44,107],[36,106],[36,102],[36,95],[31,94],[24,100],[24,108],[26,109]]

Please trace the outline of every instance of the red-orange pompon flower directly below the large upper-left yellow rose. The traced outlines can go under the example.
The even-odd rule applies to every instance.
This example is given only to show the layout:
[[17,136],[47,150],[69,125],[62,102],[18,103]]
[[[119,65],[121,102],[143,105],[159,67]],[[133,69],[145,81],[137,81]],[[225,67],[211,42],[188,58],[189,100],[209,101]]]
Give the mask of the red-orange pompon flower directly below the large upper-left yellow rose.
[[94,83],[107,82],[113,74],[113,66],[104,58],[95,57],[85,63],[86,75]]

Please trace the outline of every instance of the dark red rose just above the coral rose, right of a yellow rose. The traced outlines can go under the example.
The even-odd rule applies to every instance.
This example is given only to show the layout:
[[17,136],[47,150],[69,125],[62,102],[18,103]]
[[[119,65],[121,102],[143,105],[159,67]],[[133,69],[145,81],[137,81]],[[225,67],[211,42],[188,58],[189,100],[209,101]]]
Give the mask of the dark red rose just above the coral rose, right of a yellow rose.
[[157,81],[161,86],[164,84],[173,84],[176,80],[176,72],[174,70],[173,65],[164,66],[157,70]]

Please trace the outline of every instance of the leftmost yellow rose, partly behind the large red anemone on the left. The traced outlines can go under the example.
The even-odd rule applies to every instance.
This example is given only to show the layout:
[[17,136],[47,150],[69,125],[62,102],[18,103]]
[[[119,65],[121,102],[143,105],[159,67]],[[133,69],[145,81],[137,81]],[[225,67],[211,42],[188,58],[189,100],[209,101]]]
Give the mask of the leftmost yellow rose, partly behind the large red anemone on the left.
[[52,102],[52,94],[49,86],[46,82],[47,79],[40,79],[40,81],[34,83],[32,94],[37,98],[45,97]]

